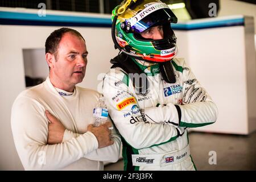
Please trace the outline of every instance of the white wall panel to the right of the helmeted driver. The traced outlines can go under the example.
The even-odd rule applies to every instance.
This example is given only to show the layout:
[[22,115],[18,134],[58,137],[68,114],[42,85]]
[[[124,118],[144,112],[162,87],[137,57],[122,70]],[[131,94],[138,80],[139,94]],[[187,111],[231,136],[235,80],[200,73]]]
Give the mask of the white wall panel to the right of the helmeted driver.
[[[225,19],[243,16],[226,16]],[[191,20],[195,23],[224,17]],[[212,133],[249,134],[256,129],[256,60],[253,18],[246,26],[175,31],[179,54],[218,107],[213,125],[193,129]]]

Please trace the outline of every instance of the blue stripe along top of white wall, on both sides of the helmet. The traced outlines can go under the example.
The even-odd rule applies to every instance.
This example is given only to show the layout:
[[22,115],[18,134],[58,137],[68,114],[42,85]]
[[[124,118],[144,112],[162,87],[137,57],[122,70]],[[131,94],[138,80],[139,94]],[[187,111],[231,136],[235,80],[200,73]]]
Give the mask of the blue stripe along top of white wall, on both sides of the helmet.
[[[203,28],[243,26],[243,18],[216,20],[211,22],[171,24],[174,30],[197,30]],[[0,24],[29,25],[29,26],[76,26],[76,27],[111,27],[110,18],[90,16],[46,15],[38,16],[32,13],[15,13],[0,11]]]

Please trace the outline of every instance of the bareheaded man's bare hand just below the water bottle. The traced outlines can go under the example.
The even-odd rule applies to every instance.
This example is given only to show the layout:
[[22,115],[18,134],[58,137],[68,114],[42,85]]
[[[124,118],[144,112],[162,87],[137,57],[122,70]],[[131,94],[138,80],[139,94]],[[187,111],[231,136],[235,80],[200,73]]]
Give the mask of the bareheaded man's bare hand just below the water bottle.
[[111,130],[112,127],[110,122],[106,122],[103,125],[95,127],[93,125],[88,125],[87,131],[92,132],[98,140],[98,148],[103,148],[114,144],[113,140],[111,140]]

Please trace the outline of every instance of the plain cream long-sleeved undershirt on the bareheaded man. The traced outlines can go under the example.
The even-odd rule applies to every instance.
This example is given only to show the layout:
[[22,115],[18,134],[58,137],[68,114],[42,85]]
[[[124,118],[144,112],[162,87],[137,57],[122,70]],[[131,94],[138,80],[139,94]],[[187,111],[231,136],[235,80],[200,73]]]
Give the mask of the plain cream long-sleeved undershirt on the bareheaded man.
[[[11,128],[24,169],[102,170],[103,162],[116,162],[119,136],[112,134],[114,144],[97,149],[97,138],[86,132],[87,126],[95,122],[92,113],[99,94],[79,86],[69,96],[59,92],[48,77],[42,84],[24,90],[14,101]],[[46,109],[66,128],[60,144],[47,144]]]

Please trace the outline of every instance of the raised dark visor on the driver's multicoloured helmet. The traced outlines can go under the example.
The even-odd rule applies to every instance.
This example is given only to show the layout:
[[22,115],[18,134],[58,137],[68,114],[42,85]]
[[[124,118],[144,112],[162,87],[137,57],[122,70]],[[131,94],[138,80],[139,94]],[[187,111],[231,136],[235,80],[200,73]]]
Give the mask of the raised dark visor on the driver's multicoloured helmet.
[[164,24],[166,22],[177,23],[177,18],[170,9],[160,9],[139,20],[131,26],[131,30],[135,33],[141,33],[147,28],[154,27],[157,24]]

